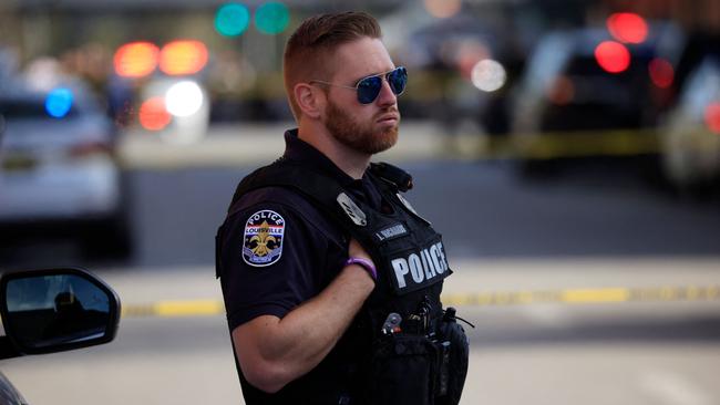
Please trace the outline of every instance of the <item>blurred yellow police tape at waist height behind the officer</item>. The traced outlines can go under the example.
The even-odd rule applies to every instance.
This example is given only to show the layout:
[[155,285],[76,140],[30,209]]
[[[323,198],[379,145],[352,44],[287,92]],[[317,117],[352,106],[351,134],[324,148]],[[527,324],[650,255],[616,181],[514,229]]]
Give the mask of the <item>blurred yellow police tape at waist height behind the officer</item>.
[[[623,302],[716,301],[720,285],[598,288],[548,291],[508,291],[443,294],[450,307],[504,307],[538,303],[611,304]],[[123,305],[123,316],[207,316],[225,313],[219,300],[158,301]]]

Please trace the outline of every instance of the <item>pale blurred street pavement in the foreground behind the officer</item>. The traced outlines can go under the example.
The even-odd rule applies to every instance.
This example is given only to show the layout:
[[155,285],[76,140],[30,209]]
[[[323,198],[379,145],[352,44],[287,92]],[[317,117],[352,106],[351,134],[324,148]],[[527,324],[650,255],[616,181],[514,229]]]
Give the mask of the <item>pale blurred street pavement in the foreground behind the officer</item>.
[[[445,295],[720,285],[710,259],[459,260]],[[209,266],[97,269],[125,307],[219,300]],[[717,292],[717,290],[716,290]],[[718,404],[720,298],[462,304],[462,404]],[[679,330],[686,330],[679,333]],[[31,404],[241,403],[223,314],[125,315],[103,346],[14,359]]]

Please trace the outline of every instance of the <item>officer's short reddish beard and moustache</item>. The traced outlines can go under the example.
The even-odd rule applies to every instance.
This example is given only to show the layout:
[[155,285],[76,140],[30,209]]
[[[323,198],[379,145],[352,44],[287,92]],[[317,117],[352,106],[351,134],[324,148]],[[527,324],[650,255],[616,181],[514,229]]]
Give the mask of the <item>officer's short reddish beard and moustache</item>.
[[[384,108],[376,116],[379,117],[397,108]],[[374,117],[373,117],[374,118]],[[374,155],[388,150],[398,142],[398,125],[380,129],[373,128],[374,120],[359,123],[339,105],[328,98],[327,121],[325,126],[338,142],[354,150]]]

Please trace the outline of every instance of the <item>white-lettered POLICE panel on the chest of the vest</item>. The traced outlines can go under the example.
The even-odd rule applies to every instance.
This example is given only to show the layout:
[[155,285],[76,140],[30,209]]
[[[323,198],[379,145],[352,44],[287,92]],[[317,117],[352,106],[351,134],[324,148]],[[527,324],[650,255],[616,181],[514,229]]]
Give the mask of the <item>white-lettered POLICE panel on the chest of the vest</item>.
[[452,274],[441,241],[393,257],[390,259],[390,279],[399,295],[430,287]]

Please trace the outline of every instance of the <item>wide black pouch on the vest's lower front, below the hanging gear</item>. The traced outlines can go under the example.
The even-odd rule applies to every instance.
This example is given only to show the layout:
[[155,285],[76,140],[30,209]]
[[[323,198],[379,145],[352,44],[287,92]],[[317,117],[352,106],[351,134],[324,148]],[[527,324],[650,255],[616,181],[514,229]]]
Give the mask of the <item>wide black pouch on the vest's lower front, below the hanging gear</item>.
[[383,339],[372,354],[370,404],[432,405],[438,346],[423,335]]

